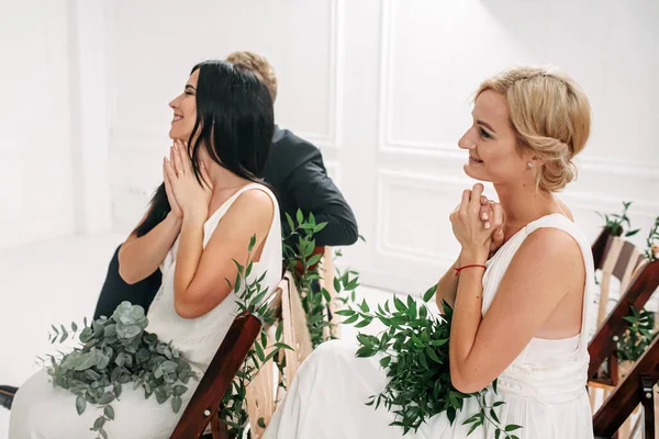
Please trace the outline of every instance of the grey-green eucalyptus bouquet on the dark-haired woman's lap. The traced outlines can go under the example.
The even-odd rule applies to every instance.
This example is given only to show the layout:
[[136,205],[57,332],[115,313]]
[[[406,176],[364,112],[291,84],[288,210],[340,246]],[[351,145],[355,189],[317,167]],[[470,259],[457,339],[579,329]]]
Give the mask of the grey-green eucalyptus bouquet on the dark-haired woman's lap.
[[[49,356],[47,368],[53,385],[70,391],[76,397],[76,409],[81,415],[88,403],[102,408],[91,427],[97,438],[108,438],[107,421],[114,419],[112,404],[119,399],[124,385],[142,386],[145,398],[156,395],[158,404],[171,398],[171,409],[178,413],[181,396],[188,391],[190,379],[198,379],[190,363],[179,356],[171,344],[158,340],[155,334],[145,331],[148,324],[144,308],[121,303],[110,318],[102,316],[87,324],[79,334],[81,347],[56,360]],[[70,329],[52,326],[52,344],[64,342],[69,334],[75,338],[78,325]]]

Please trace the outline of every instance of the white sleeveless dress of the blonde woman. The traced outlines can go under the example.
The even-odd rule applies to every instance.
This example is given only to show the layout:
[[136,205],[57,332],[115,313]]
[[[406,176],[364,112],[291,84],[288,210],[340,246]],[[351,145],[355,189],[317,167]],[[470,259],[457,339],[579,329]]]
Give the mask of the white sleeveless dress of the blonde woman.
[[[560,228],[579,243],[587,268],[587,285],[590,285],[593,280],[593,260],[588,239],[565,216],[544,216],[515,234],[488,261],[483,277],[483,315],[492,304],[513,256],[524,239],[540,227]],[[587,322],[587,305],[590,303],[588,290],[587,286],[583,323]],[[493,401],[505,402],[496,408],[503,426],[523,426],[523,429],[513,435],[521,439],[593,438],[592,414],[585,391],[589,364],[585,329],[582,325],[580,335],[561,340],[533,338],[500,375],[499,395],[488,392],[489,404]],[[386,407],[376,409],[375,406],[364,404],[370,395],[382,392],[386,383],[387,376],[379,365],[379,358],[356,358],[354,344],[325,342],[298,370],[264,439],[403,437],[401,427],[389,426],[394,417]],[[467,438],[471,426],[462,426],[462,421],[479,413],[479,405],[474,398],[465,403],[465,408],[453,426],[445,414],[439,414],[404,438]],[[494,428],[485,424],[469,438],[494,438]]]

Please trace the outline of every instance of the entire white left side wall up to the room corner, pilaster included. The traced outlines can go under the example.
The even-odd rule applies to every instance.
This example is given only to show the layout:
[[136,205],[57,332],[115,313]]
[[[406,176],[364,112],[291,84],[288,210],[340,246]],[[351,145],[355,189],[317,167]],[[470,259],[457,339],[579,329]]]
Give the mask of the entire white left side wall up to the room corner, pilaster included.
[[103,1],[0,8],[0,249],[107,232]]

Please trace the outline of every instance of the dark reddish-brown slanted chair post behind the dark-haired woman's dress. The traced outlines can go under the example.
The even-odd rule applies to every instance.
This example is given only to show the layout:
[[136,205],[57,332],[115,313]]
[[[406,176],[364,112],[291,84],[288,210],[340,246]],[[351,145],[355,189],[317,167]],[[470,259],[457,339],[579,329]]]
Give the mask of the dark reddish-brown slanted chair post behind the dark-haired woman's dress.
[[[276,315],[281,306],[283,288],[286,285],[280,283],[269,300],[269,307]],[[228,438],[226,426],[220,419],[220,403],[231,389],[260,329],[261,322],[252,314],[242,313],[234,319],[171,434],[171,439],[199,438],[209,424],[213,439]]]

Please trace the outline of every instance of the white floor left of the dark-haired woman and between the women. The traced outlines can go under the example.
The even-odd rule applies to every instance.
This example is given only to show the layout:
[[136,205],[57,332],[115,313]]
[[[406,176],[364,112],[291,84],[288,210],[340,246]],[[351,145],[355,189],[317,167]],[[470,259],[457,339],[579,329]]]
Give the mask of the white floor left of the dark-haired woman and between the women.
[[[48,342],[52,324],[91,316],[110,258],[123,239],[69,237],[0,251],[0,384],[20,385],[40,369],[37,356],[55,352]],[[390,297],[366,286],[358,295],[369,304]],[[355,335],[354,327],[344,327],[343,338]],[[7,439],[9,414],[0,408],[0,439]]]

